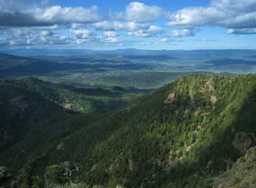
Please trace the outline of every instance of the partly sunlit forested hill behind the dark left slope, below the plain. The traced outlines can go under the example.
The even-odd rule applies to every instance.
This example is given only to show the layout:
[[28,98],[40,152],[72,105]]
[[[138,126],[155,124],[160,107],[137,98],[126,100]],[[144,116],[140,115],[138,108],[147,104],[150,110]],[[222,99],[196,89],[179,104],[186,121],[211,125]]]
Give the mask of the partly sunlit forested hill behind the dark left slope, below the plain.
[[112,92],[105,89],[79,89],[67,85],[45,83],[28,77],[9,83],[24,91],[39,93],[44,99],[52,101],[65,109],[84,113],[102,113],[128,103],[133,95]]

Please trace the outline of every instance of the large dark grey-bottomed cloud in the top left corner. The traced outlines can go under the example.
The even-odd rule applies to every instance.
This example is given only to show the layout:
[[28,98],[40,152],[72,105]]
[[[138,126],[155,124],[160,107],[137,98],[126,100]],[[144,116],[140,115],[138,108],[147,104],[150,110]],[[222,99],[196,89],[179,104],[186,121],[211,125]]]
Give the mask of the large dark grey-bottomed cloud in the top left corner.
[[[32,5],[34,2],[34,5]],[[32,27],[67,23],[91,23],[102,20],[98,7],[46,6],[47,1],[0,0],[0,26]]]

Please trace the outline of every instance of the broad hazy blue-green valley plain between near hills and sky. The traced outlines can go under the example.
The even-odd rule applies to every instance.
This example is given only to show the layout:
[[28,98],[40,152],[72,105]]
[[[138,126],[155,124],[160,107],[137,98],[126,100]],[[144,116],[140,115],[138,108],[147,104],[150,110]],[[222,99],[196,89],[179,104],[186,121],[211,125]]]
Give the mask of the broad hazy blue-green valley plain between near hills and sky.
[[256,73],[254,50],[40,50],[39,53],[39,50],[28,49],[6,52],[26,57],[2,54],[2,80],[32,76],[84,88],[119,86],[137,93],[141,93],[140,89],[158,89],[183,75]]

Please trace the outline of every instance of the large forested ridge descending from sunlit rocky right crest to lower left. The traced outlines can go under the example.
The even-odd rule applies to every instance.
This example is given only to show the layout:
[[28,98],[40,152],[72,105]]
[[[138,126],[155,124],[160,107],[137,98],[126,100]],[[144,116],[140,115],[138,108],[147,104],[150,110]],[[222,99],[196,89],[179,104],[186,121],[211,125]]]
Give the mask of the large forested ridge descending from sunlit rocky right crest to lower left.
[[186,76],[115,111],[53,118],[0,165],[40,175],[69,161],[88,185],[211,187],[256,145],[255,107],[256,75]]

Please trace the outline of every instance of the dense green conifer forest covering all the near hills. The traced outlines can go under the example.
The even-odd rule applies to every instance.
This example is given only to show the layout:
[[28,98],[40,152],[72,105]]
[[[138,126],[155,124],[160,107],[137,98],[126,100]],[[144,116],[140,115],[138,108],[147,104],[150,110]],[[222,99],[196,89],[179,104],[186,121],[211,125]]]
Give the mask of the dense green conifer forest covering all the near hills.
[[[5,187],[256,184],[256,154],[251,148],[256,145],[255,75],[189,75],[139,97],[101,91],[126,103],[115,105],[119,108],[113,111],[99,111],[104,113],[78,113],[84,99],[92,99],[84,90],[34,79],[2,82],[2,86],[9,87],[1,89],[3,142],[13,124],[4,114],[15,110],[13,106],[20,111],[36,101],[28,114],[40,114],[36,120],[26,120],[26,124],[32,121],[32,129],[15,133],[22,133],[18,142],[1,148],[0,180]],[[14,91],[15,95],[8,94]],[[65,104],[58,98],[66,97],[67,102],[67,95],[73,111],[63,109]],[[46,113],[49,108],[51,115]]]

